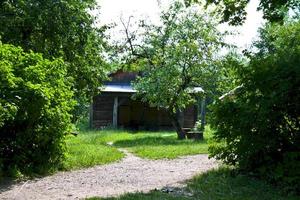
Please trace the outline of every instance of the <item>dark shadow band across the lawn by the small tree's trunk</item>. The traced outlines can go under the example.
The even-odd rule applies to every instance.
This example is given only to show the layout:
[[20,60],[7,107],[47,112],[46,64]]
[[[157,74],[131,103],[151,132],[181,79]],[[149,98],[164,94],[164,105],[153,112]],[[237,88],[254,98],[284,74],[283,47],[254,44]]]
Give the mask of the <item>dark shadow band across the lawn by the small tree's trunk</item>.
[[142,137],[135,139],[119,140],[114,143],[116,147],[136,147],[136,146],[164,146],[164,145],[186,145],[186,144],[205,144],[206,140],[178,140],[176,137]]

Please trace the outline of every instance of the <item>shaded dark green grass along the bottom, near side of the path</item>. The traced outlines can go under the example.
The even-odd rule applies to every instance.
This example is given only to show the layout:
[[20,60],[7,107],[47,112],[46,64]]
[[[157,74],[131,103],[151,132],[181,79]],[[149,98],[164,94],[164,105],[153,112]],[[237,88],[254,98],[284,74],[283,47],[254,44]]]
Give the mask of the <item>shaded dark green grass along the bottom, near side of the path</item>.
[[[297,200],[299,196],[287,196],[278,188],[263,181],[244,175],[234,175],[228,168],[212,170],[190,180],[185,193],[149,193],[126,194],[118,198],[102,198],[102,200]],[[187,196],[190,193],[192,196]],[[93,200],[101,198],[90,198]]]

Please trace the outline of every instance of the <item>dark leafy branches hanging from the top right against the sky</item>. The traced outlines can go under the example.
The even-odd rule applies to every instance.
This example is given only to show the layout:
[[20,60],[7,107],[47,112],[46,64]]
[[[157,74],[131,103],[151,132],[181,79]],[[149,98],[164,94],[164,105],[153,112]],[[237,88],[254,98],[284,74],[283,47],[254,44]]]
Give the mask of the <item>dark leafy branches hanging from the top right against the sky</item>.
[[[199,0],[185,0],[186,5]],[[232,25],[241,25],[246,19],[245,8],[250,0],[205,0],[206,6],[216,5],[222,13],[222,22],[229,22]],[[263,12],[264,19],[270,22],[282,22],[289,9],[299,11],[299,0],[260,0],[257,10]]]

